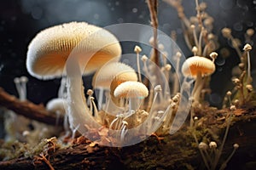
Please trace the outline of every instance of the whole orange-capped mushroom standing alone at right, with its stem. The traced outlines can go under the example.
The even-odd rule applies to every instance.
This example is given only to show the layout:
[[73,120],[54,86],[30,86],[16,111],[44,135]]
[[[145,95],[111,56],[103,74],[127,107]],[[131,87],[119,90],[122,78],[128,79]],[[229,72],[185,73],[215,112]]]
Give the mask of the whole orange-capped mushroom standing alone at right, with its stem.
[[199,101],[201,88],[203,88],[202,77],[209,76],[215,71],[214,63],[205,57],[193,56],[186,59],[182,66],[184,77],[195,79],[195,86],[192,92],[195,101]]

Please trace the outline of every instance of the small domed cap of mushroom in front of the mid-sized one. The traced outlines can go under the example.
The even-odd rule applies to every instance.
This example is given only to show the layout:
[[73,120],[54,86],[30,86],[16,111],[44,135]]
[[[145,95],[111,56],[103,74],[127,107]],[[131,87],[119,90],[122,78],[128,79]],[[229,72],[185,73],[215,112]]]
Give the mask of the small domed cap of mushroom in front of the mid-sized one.
[[145,98],[148,88],[142,82],[123,82],[114,89],[113,95],[117,98]]

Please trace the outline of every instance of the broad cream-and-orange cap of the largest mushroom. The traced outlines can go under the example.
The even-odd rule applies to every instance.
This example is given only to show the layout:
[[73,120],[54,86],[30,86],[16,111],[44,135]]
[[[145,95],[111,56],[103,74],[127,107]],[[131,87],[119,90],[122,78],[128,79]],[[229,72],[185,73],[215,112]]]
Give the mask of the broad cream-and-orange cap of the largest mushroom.
[[119,60],[121,48],[109,31],[85,22],[70,22],[40,31],[28,46],[27,71],[39,79],[61,77],[68,56],[88,58],[84,74],[90,74],[108,60]]

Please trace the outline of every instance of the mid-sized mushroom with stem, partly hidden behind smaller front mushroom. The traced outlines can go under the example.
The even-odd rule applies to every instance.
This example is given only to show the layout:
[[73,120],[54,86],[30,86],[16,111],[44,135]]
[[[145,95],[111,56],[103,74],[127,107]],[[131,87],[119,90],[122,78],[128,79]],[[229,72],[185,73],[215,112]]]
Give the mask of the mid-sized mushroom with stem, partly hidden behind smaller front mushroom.
[[[120,75],[131,75],[131,80],[137,81],[137,74],[131,66],[125,65],[124,63],[119,62],[112,62],[108,63],[107,65],[103,65],[102,68],[96,71],[92,79],[92,86],[94,88],[99,89],[99,99],[98,99],[98,109],[101,109],[102,100],[103,100],[103,91],[106,90],[108,98],[110,84],[113,81],[113,78]],[[108,105],[108,100],[106,100]]]

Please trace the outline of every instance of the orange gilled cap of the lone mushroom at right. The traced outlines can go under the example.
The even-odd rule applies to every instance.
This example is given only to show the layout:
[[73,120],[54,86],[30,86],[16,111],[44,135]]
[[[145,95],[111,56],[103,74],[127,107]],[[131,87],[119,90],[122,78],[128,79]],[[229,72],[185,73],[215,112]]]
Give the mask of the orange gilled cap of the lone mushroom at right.
[[182,73],[184,77],[196,77],[198,72],[201,76],[211,75],[215,71],[215,65],[210,59],[193,56],[183,63]]

